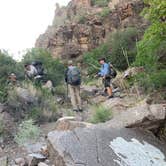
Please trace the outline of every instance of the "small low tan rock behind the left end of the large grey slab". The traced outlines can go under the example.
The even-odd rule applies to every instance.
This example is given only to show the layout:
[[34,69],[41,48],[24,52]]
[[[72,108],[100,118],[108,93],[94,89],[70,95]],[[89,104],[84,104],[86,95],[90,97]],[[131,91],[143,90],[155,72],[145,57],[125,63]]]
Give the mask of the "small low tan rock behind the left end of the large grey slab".
[[63,117],[56,122],[55,130],[65,131],[74,130],[75,128],[85,128],[92,124],[86,122],[75,121],[75,117]]

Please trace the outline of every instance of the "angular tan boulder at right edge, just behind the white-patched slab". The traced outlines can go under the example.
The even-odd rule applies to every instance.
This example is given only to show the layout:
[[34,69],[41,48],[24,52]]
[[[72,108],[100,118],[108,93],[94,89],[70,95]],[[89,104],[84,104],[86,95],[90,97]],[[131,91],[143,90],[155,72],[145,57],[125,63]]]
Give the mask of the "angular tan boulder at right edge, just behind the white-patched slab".
[[143,127],[159,128],[165,120],[166,109],[163,104],[149,105],[146,101],[122,111],[118,116],[107,122],[110,127]]

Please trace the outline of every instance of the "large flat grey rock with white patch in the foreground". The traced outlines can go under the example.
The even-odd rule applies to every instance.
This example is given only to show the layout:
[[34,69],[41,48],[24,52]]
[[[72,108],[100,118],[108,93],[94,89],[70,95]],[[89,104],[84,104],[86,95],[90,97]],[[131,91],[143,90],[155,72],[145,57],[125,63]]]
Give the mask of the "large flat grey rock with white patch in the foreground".
[[55,166],[166,166],[166,146],[138,129],[53,131],[48,146]]

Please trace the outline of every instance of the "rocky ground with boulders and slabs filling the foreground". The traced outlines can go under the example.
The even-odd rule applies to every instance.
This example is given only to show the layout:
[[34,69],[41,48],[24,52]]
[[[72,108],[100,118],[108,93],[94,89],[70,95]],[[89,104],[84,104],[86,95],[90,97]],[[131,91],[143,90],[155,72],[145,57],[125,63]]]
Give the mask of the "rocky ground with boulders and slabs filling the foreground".
[[[41,125],[42,132],[36,143],[18,147],[11,142],[11,135],[1,140],[0,165],[23,166],[29,163],[29,166],[138,166],[135,164],[138,162],[135,155],[140,155],[141,148],[147,159],[140,156],[141,160],[144,158],[140,164],[166,165],[165,144],[150,132],[164,123],[164,103],[148,104],[148,99],[143,95],[138,97],[126,92],[120,94],[119,91],[115,92],[115,96],[118,94],[116,97],[107,100],[101,95],[101,89],[95,86],[83,86],[82,92],[93,96],[84,103],[85,111],[73,113],[67,109],[64,117],[57,122]],[[98,125],[87,123],[92,112],[90,105],[96,103],[112,110],[113,118],[110,121]],[[1,113],[9,130],[15,131],[14,119],[3,110],[1,105]],[[131,146],[131,152],[126,154],[122,145]],[[138,154],[133,154],[132,150],[139,146]]]

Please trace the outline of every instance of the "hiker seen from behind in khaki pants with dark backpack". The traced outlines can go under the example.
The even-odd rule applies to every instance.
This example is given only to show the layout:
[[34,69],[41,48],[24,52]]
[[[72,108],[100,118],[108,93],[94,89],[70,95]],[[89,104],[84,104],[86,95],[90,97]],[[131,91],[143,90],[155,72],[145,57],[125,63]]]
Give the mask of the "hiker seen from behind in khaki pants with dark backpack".
[[73,66],[72,61],[68,62],[68,68],[65,72],[65,81],[69,87],[73,111],[82,112],[80,97],[81,74],[79,69],[76,66]]

